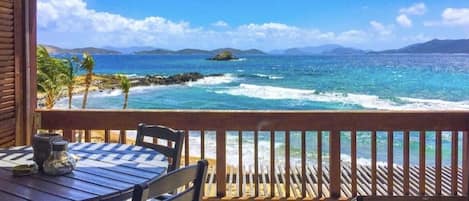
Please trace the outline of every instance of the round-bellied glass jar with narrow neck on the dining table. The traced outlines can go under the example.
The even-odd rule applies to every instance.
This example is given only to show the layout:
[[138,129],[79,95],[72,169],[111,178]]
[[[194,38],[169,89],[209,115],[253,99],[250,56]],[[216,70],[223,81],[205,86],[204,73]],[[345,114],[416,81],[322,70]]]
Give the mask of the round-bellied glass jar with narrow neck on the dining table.
[[67,141],[55,141],[52,143],[52,152],[44,161],[44,173],[48,175],[64,175],[72,172],[76,166],[76,159],[67,152]]

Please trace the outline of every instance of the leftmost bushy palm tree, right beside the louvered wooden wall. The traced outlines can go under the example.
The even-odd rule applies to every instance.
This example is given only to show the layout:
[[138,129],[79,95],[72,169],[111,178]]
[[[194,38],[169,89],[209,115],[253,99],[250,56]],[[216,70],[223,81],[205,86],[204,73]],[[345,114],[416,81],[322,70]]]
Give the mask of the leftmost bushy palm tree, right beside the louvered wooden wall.
[[63,72],[66,64],[61,59],[52,58],[44,46],[37,49],[37,88],[45,93],[47,109],[54,107],[62,93]]

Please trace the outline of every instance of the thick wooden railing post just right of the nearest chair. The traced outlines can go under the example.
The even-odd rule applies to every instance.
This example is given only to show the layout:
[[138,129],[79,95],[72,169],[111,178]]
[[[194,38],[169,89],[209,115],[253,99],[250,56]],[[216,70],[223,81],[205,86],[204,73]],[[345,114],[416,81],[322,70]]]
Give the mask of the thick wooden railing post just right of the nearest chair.
[[216,132],[216,156],[217,156],[217,197],[226,195],[226,131]]

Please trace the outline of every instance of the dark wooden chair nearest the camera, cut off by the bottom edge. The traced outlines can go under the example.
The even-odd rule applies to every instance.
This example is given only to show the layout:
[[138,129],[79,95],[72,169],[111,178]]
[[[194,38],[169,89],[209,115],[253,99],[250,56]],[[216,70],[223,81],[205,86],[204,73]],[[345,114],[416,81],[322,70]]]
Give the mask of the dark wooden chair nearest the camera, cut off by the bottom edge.
[[[208,161],[200,160],[197,165],[187,166],[152,181],[137,184],[132,201],[145,201],[155,197],[161,201],[201,201],[207,167]],[[192,185],[179,194],[167,194],[189,184]]]

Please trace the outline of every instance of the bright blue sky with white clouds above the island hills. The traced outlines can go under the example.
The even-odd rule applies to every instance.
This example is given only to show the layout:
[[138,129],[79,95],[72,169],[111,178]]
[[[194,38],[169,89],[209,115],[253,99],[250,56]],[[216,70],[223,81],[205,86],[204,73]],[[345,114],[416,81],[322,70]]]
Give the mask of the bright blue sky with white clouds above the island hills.
[[469,1],[38,0],[39,42],[68,48],[380,50],[433,38],[469,38]]

